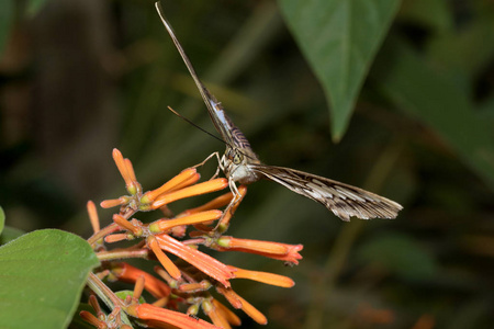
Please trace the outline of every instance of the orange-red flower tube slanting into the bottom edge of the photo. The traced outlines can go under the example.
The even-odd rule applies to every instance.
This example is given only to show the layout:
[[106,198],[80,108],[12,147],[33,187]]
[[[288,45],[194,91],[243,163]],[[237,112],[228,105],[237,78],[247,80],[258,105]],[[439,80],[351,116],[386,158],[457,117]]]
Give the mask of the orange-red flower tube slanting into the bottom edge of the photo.
[[171,325],[182,329],[218,329],[218,327],[202,319],[146,303],[132,305],[127,308],[127,311],[133,317],[146,321],[153,328],[170,328]]

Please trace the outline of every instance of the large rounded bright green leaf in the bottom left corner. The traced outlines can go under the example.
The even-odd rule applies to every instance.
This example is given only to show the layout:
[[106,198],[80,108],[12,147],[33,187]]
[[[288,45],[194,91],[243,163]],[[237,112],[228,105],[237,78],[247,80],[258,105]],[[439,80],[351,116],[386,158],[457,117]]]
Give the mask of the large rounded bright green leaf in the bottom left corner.
[[0,247],[0,328],[66,328],[98,264],[86,240],[60,230],[33,231]]

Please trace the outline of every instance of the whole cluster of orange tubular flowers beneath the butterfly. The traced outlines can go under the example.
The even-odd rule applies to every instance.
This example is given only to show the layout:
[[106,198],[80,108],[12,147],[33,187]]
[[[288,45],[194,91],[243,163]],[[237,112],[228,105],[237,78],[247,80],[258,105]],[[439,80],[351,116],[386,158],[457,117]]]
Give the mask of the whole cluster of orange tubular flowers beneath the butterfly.
[[[160,188],[143,192],[132,163],[113,150],[113,159],[122,174],[128,195],[101,202],[103,208],[119,206],[113,223],[100,228],[96,205],[88,202],[88,213],[94,230],[88,242],[97,252],[102,265],[91,273],[88,286],[112,309],[105,315],[97,298],[91,295],[90,305],[96,316],[81,311],[81,317],[97,328],[132,328],[133,321],[148,328],[231,328],[239,326],[240,319],[215,297],[223,295],[233,308],[242,309],[258,324],[267,318],[232,288],[233,279],[248,279],[280,287],[291,287],[294,282],[282,275],[250,271],[224,264],[199,250],[199,247],[217,251],[240,251],[261,254],[297,264],[301,245],[238,239],[225,236],[231,218],[247,192],[239,186],[240,201],[224,211],[233,198],[225,193],[206,204],[173,215],[168,204],[228,186],[226,179],[216,178],[199,182],[195,168],[188,168]],[[162,217],[143,223],[134,216],[139,212],[160,211]],[[128,240],[131,247],[109,249],[112,242]],[[175,256],[170,259],[170,254]],[[156,276],[126,263],[125,259],[157,260]],[[158,279],[159,277],[159,279]],[[114,293],[108,282],[120,281],[134,284],[134,291]],[[147,303],[142,297],[146,291],[154,297]],[[180,313],[178,309],[186,309]],[[198,317],[199,310],[212,321]],[[128,326],[128,327],[126,327]]]

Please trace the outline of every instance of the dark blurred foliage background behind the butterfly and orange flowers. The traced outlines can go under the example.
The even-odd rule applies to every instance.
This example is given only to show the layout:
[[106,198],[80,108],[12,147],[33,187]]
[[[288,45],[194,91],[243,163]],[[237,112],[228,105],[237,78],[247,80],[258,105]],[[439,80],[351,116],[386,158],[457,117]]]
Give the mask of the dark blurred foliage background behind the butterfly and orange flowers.
[[[166,110],[213,129],[153,1],[43,2],[0,4],[0,202],[8,228],[87,236],[86,201],[123,191],[113,147],[153,189],[224,146]],[[221,254],[296,282],[287,291],[242,282],[234,288],[267,314],[270,328],[492,327],[493,2],[382,1],[389,8],[380,13],[364,7],[377,1],[347,1],[355,8],[339,15],[322,2],[334,8],[164,3],[200,77],[261,159],[405,207],[396,220],[344,224],[258,182],[232,235],[303,243],[304,259],[284,269]],[[372,22],[378,30],[366,29]],[[350,60],[343,46],[367,55]],[[349,67],[358,71],[351,79],[345,70],[326,76],[345,60],[360,65]],[[336,99],[335,88],[348,80],[346,98]],[[209,163],[203,177],[214,169]],[[244,328],[250,325],[245,318]]]

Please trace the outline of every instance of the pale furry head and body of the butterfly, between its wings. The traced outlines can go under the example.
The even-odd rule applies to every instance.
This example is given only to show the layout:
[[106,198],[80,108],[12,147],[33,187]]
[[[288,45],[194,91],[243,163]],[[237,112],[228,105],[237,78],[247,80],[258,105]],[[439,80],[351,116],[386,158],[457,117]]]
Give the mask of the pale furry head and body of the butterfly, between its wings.
[[234,182],[250,184],[262,178],[251,169],[251,164],[258,164],[260,161],[250,148],[227,147],[221,162],[223,172]]

